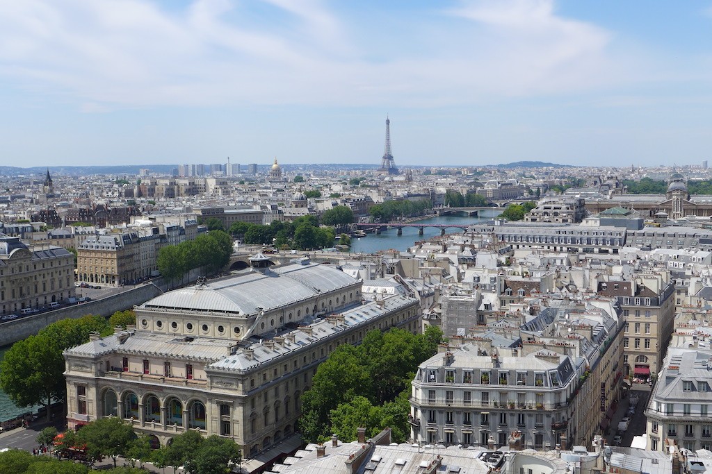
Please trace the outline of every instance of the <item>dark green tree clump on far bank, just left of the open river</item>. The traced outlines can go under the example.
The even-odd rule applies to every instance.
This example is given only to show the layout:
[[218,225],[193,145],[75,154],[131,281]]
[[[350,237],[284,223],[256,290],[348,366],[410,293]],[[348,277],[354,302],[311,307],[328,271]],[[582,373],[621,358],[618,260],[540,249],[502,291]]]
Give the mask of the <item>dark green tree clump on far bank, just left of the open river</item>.
[[336,232],[331,227],[319,227],[316,216],[298,217],[293,222],[273,220],[269,225],[235,222],[229,232],[246,244],[274,244],[278,248],[312,250],[332,247]]

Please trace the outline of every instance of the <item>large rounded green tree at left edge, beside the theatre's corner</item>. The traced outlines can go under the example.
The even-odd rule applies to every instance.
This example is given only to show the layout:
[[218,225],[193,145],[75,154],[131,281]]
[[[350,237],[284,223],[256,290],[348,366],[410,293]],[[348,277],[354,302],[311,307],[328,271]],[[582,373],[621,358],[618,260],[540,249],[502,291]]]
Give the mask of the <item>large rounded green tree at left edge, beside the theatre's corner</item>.
[[0,387],[16,406],[45,406],[49,421],[50,405],[66,393],[62,350],[57,340],[38,334],[14,343],[5,353]]

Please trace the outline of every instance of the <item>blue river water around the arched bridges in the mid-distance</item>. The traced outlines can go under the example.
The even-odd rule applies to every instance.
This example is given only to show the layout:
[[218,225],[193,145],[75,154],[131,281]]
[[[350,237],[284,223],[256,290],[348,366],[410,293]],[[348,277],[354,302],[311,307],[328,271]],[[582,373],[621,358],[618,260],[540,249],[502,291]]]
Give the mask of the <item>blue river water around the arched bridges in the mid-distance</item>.
[[[452,224],[452,225],[468,225],[476,224],[486,220],[491,220],[502,212],[501,209],[482,210],[480,216],[467,216],[464,214],[458,215],[443,215],[440,217],[431,217],[429,219],[413,222],[414,224]],[[446,229],[446,233],[454,234],[462,231],[456,228]],[[403,235],[396,235],[396,229],[389,229],[381,232],[379,235],[368,234],[367,237],[360,239],[351,239],[351,252],[355,253],[372,253],[379,250],[395,249],[401,252],[406,251],[409,247],[419,240],[440,235],[440,229],[437,227],[425,227],[423,235],[418,235],[418,227],[403,227]]]

